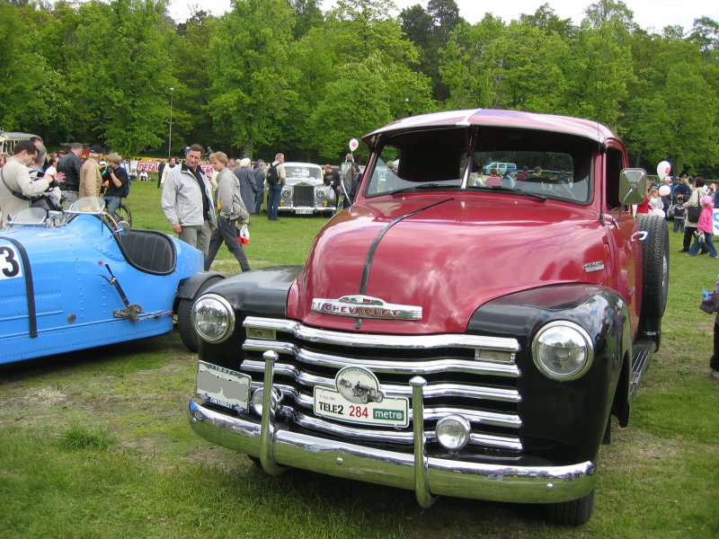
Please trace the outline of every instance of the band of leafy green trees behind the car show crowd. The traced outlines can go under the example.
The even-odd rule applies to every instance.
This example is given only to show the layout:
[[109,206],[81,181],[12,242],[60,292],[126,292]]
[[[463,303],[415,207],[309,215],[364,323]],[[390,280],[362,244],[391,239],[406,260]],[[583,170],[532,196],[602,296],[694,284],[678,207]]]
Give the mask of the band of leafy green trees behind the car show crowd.
[[388,120],[507,108],[597,119],[650,171],[669,159],[674,173],[719,175],[719,22],[706,16],[658,32],[615,0],[579,25],[550,3],[469,24],[455,0],[398,17],[381,0],[234,0],[175,23],[168,4],[0,3],[0,127],[51,148],[167,155],[173,87],[175,155],[197,142],[332,162]]

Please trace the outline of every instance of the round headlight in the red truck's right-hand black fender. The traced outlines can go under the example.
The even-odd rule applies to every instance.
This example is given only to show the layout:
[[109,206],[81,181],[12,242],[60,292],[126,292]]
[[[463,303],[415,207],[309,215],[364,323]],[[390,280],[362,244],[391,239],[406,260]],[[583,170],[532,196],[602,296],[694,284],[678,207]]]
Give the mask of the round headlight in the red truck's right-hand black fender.
[[582,376],[594,358],[589,333],[572,322],[547,323],[532,342],[532,358],[540,371],[560,382]]

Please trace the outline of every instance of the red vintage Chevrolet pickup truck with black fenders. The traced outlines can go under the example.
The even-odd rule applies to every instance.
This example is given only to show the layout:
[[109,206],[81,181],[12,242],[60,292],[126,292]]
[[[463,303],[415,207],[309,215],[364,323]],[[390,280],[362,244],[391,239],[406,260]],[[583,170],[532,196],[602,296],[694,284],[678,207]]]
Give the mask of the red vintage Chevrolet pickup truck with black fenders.
[[[297,467],[591,515],[599,447],[661,341],[668,234],[597,122],[510,110],[395,121],[305,266],[192,307],[191,427]],[[485,182],[484,164],[529,173]],[[546,172],[545,172],[546,171]]]

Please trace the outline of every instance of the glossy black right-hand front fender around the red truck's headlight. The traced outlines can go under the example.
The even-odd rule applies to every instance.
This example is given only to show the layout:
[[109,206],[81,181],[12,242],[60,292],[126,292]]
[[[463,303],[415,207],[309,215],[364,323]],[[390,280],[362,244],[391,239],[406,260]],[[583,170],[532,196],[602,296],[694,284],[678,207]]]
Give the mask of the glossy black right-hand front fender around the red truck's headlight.
[[[594,346],[589,370],[572,381],[545,376],[532,358],[537,331],[559,320],[579,324]],[[478,308],[467,332],[519,340],[517,386],[526,453],[544,455],[553,462],[597,457],[622,369],[626,358],[631,358],[629,311],[616,291],[582,284],[520,291]]]

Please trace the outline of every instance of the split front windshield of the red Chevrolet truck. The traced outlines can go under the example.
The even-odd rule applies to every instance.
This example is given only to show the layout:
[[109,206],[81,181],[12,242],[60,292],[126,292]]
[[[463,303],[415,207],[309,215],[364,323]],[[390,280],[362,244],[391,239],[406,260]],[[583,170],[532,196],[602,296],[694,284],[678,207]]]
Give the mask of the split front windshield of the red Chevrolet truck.
[[466,128],[403,133],[387,140],[366,196],[409,190],[517,190],[578,204],[591,196],[596,145],[582,137],[512,128],[480,128],[474,146]]

